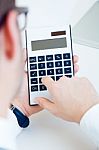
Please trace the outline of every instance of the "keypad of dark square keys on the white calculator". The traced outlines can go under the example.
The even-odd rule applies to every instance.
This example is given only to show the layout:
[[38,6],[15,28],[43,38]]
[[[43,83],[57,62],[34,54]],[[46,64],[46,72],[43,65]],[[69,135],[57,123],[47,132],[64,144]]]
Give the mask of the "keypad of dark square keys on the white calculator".
[[29,63],[31,92],[47,90],[41,82],[44,76],[50,76],[54,81],[63,75],[72,77],[70,53],[30,57]]

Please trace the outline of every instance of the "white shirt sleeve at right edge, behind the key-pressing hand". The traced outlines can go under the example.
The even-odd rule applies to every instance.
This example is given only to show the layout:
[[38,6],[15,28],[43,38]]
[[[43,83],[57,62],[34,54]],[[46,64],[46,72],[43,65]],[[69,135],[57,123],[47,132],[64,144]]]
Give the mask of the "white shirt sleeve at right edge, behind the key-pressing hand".
[[99,104],[85,113],[81,119],[80,126],[99,147]]

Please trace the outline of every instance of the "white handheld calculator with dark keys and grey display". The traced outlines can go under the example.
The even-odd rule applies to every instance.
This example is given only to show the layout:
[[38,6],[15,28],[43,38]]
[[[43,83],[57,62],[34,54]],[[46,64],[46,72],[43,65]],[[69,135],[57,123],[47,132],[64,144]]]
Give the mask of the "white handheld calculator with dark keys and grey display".
[[36,97],[51,99],[42,77],[58,81],[74,75],[71,26],[28,29],[25,31],[29,104]]

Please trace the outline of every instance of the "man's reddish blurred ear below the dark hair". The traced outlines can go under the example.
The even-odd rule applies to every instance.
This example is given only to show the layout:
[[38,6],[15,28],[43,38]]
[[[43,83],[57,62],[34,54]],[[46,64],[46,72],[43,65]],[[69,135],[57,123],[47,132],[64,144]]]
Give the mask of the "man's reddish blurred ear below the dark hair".
[[9,12],[6,23],[4,25],[5,35],[5,55],[8,59],[15,56],[16,48],[19,45],[19,31],[17,26],[17,13]]

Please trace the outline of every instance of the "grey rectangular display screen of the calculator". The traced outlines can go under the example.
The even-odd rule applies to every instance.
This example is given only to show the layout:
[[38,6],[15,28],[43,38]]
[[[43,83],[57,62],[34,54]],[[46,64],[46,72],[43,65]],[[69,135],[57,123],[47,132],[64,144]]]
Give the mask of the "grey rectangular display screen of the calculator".
[[54,49],[54,48],[64,48],[67,47],[67,40],[65,38],[55,38],[47,40],[32,41],[32,51]]

